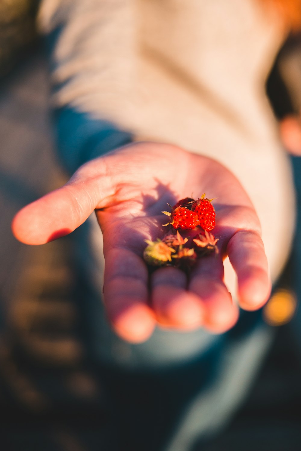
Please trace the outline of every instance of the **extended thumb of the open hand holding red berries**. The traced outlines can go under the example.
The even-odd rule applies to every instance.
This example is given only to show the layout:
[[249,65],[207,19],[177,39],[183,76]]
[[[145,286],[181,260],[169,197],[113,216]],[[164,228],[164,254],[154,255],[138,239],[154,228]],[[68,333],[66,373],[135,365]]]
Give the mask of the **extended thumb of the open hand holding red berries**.
[[87,163],[64,186],[23,207],[12,222],[14,236],[25,244],[45,244],[79,227],[101,199],[111,195],[107,177],[101,168],[95,170],[95,162],[93,171]]

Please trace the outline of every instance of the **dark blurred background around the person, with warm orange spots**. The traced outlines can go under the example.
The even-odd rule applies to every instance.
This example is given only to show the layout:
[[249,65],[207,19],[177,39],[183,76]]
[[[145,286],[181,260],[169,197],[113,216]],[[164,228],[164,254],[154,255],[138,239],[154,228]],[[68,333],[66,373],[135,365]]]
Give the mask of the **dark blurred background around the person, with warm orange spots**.
[[[37,7],[37,0],[0,0],[1,449],[107,450],[110,406],[89,359],[90,318],[80,303],[88,287],[73,267],[74,234],[29,247],[10,231],[20,207],[66,181],[54,152]],[[291,38],[279,59],[299,45]],[[294,112],[280,72],[277,60],[267,84],[279,120]],[[292,163],[299,193],[301,165],[297,157]],[[275,341],[244,405],[203,451],[301,449],[300,282],[292,269],[300,268],[299,224],[291,262],[263,311]]]

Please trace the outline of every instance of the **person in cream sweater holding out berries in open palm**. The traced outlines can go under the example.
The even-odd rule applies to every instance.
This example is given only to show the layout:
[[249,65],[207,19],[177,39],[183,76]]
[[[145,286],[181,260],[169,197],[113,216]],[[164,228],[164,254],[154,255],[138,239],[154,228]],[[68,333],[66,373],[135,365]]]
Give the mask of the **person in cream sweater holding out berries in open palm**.
[[[12,228],[24,243],[45,244],[95,211],[101,232],[80,259],[101,298],[102,235],[97,358],[114,373],[112,399],[116,381],[123,393],[114,399],[131,450],[183,451],[210,437],[269,346],[270,331],[250,312],[269,299],[287,261],[295,213],[264,94],[288,26],[261,3],[41,5],[57,147],[74,174],[24,207]],[[204,192],[216,198],[218,256],[189,278],[172,267],[148,274],[145,239],[164,233],[167,202]]]

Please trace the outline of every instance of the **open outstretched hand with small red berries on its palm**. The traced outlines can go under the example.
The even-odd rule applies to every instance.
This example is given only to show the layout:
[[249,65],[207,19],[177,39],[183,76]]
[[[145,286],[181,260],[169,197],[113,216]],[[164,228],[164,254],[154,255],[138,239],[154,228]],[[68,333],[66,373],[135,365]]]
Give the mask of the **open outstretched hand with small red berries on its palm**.
[[[167,202],[186,196],[217,198],[219,253],[200,259],[189,280],[175,267],[148,274],[145,239],[162,237]],[[24,207],[16,238],[44,244],[73,231],[96,211],[104,240],[104,303],[116,333],[148,339],[156,324],[221,333],[238,318],[223,281],[226,255],[238,279],[238,301],[255,310],[269,297],[267,259],[259,219],[239,181],[210,158],[158,143],[135,143],[81,166],[67,184]]]

